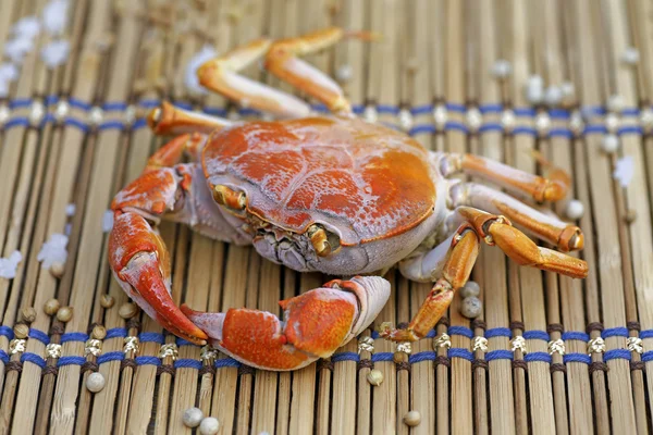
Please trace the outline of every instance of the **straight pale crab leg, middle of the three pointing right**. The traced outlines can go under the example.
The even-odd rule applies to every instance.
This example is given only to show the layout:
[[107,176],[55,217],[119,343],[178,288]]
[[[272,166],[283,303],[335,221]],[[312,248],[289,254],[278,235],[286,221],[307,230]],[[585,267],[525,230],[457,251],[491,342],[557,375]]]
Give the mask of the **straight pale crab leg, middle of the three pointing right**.
[[469,206],[490,213],[504,214],[533,236],[567,252],[582,249],[583,234],[576,225],[544,214],[498,190],[476,183],[459,183],[451,187],[454,207]]

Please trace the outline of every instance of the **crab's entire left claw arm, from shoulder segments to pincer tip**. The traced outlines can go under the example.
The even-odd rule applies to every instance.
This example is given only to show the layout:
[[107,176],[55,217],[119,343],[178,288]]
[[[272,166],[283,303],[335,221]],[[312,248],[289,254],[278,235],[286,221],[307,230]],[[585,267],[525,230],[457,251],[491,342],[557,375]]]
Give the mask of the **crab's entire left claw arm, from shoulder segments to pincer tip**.
[[[148,161],[144,174],[121,190],[111,204],[113,228],[109,236],[109,262],[121,287],[152,319],[173,334],[201,344],[206,334],[174,304],[170,296],[170,258],[157,229],[150,224],[165,213],[174,220],[201,224],[197,206],[202,201],[201,170],[197,164],[175,164],[184,150],[198,151],[202,135],[183,135],[159,149]],[[201,178],[204,179],[204,178]],[[208,191],[208,188],[204,186]],[[206,201],[205,201],[206,202]],[[215,207],[209,203],[208,207]],[[217,220],[213,236],[236,239],[233,228]],[[219,234],[220,232],[220,234]],[[220,237],[217,237],[220,238]]]

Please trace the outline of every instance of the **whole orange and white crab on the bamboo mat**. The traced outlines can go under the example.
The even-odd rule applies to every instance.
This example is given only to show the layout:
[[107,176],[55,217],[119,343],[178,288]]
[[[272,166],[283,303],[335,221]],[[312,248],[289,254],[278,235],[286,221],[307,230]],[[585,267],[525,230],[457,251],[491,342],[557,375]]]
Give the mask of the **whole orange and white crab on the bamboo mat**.
[[[175,137],[113,199],[109,261],[127,295],[176,336],[250,366],[295,370],[370,326],[390,297],[390,283],[379,275],[397,264],[408,279],[433,287],[406,327],[383,328],[395,341],[428,334],[469,278],[482,244],[521,265],[587,276],[587,263],[565,253],[582,248],[580,228],[539,207],[566,196],[564,171],[549,166],[542,177],[472,154],[430,151],[402,132],[356,117],[341,87],[299,59],[345,37],[373,39],[328,28],[259,39],[200,66],[202,86],[276,121],[230,122],[165,102],[148,115],[156,134]],[[303,100],[238,75],[262,57],[272,74],[331,113],[317,115]],[[190,162],[181,162],[184,152]],[[455,176],[465,174],[513,195]],[[218,240],[254,245],[295,271],[349,278],[280,301],[283,320],[247,308],[207,313],[177,307],[157,231],[163,217]],[[537,246],[513,224],[558,250]]]

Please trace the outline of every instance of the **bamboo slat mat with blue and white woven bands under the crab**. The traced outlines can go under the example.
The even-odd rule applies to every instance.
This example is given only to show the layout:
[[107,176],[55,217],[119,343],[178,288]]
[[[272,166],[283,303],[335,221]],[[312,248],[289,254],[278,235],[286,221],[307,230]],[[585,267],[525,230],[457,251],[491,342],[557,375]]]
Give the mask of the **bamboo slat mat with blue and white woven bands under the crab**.
[[[1,1],[0,47],[13,23],[39,15],[46,3]],[[651,432],[652,2],[72,3],[67,62],[46,67],[39,52],[53,37],[41,33],[0,102],[0,257],[23,256],[15,277],[0,278],[1,434],[188,433],[182,413],[193,406],[218,418],[225,434]],[[394,344],[375,339],[373,350],[359,352],[353,340],[330,361],[262,372],[175,341],[146,315],[125,322],[119,308],[127,298],[109,273],[102,221],[112,196],[163,142],[146,128],[145,110],[165,97],[257,117],[218,96],[190,97],[188,61],[205,45],[222,53],[260,35],[329,25],[383,35],[310,58],[332,75],[346,71],[347,95],[368,120],[397,125],[431,149],[471,151],[532,172],[541,171],[530,153],[539,150],[569,171],[571,197],[586,208],[580,256],[589,277],[520,269],[483,247],[472,272],[483,314],[470,322],[456,298],[434,339],[412,346],[408,364],[394,362]],[[634,66],[624,62],[630,47],[639,53]],[[504,79],[492,74],[500,59],[512,65]],[[248,74],[293,91],[257,69]],[[572,83],[575,97],[564,108],[530,105],[523,89],[535,74],[545,86]],[[620,112],[606,110],[614,95],[623,98]],[[608,133],[618,135],[616,153],[602,151]],[[632,179],[621,187],[612,174],[629,157]],[[563,213],[565,204],[554,209]],[[66,229],[69,258],[57,278],[36,257]],[[279,299],[324,279],[183,226],[164,223],[161,232],[174,259],[174,299],[196,309],[279,313]],[[394,296],[379,321],[408,321],[430,286],[392,271],[387,278]],[[100,303],[104,294],[112,308]],[[74,308],[70,322],[44,312],[54,297]],[[29,337],[14,339],[27,307],[37,312]],[[99,344],[87,343],[94,325],[108,331]],[[125,348],[128,337],[139,339],[137,351]],[[175,343],[176,359],[160,355]],[[101,351],[85,352],[89,347]],[[384,374],[380,386],[366,381],[372,365]],[[84,386],[94,371],[107,381],[95,395]],[[418,426],[403,423],[409,410],[420,412]]]

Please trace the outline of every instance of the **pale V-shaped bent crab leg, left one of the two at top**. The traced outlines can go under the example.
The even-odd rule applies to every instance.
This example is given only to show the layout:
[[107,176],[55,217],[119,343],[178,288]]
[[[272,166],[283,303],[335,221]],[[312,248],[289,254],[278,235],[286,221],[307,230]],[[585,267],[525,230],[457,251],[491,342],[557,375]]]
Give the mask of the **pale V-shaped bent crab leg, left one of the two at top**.
[[206,62],[197,71],[199,83],[243,107],[258,109],[280,117],[307,116],[310,107],[306,102],[237,74],[262,58],[271,45],[270,39],[257,39]]

